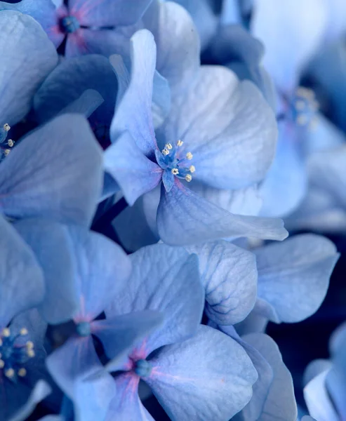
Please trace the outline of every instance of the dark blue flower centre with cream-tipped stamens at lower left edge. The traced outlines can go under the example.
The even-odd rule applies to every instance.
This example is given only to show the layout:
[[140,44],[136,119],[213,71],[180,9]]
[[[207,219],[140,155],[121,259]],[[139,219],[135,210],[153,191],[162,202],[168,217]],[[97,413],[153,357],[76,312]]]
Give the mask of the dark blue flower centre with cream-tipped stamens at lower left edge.
[[[4,328],[0,335],[0,370],[12,381],[25,377],[27,370],[23,367],[29,359],[35,356],[34,344],[27,340],[24,344],[19,338],[27,336],[27,329],[20,329],[19,333],[12,333]],[[19,342],[19,343],[18,343]]]

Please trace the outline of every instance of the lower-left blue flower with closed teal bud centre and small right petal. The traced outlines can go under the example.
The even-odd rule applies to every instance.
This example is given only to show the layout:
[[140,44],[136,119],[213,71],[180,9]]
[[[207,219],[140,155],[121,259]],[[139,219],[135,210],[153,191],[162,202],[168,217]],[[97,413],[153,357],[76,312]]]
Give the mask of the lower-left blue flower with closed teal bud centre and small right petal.
[[48,370],[73,401],[77,420],[103,419],[116,390],[110,375],[88,380],[102,369],[92,335],[100,339],[108,358],[121,358],[161,322],[161,316],[138,312],[95,320],[117,299],[131,273],[124,251],[106,237],[39,220],[18,222],[15,227],[44,269],[46,295],[39,311],[50,323],[72,319],[76,325],[76,334],[46,359]]

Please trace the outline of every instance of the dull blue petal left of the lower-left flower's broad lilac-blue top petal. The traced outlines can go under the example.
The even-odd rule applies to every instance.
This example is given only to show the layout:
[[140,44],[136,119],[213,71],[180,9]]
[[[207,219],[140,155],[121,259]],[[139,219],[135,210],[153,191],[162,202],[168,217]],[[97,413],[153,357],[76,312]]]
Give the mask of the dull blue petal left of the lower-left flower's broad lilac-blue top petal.
[[39,311],[48,323],[69,321],[79,308],[79,298],[74,288],[74,261],[68,228],[37,219],[15,222],[14,226],[32,248],[44,271],[46,293]]

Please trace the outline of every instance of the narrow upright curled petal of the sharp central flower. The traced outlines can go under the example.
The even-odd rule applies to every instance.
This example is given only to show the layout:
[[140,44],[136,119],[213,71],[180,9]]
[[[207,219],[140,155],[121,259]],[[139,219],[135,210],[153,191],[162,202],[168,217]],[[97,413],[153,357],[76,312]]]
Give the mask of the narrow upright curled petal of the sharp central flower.
[[154,36],[142,29],[131,38],[131,81],[114,114],[112,141],[128,131],[147,156],[157,148],[152,120],[152,89],[156,65]]

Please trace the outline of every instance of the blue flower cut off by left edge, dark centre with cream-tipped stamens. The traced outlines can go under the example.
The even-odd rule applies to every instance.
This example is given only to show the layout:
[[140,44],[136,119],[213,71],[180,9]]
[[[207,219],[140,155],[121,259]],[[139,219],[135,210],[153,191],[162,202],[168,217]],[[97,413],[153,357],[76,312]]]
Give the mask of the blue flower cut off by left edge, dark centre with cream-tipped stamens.
[[39,323],[24,313],[44,297],[44,277],[15,229],[2,217],[0,226],[0,419],[24,421],[51,392],[36,365],[43,340]]

